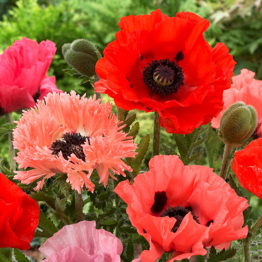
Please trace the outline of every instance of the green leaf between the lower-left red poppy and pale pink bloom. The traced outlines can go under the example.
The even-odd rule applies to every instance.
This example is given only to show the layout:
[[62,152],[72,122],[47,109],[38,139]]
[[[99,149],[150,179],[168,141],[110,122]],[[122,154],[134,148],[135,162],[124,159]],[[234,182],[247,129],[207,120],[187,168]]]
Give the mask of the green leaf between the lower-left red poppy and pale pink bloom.
[[54,223],[44,214],[42,210],[39,213],[39,224],[37,228],[42,231],[36,231],[34,236],[51,237],[54,233],[58,232]]

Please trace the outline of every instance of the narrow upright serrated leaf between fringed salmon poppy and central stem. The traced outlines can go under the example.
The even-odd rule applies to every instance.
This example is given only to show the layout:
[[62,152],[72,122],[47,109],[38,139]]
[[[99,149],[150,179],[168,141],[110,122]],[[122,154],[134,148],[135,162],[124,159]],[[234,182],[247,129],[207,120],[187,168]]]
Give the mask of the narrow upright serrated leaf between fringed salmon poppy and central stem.
[[140,172],[140,167],[148,150],[149,142],[150,142],[150,135],[146,134],[138,144],[138,148],[136,149],[136,152],[138,152],[138,154],[136,155],[136,158],[134,158],[133,161],[131,162],[131,168],[133,169],[132,172],[133,177],[138,175]]

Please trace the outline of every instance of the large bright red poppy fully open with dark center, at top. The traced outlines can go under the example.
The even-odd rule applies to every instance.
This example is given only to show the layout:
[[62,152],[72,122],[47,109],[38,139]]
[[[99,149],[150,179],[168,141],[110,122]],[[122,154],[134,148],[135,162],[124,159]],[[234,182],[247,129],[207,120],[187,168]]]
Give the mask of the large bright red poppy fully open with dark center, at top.
[[95,90],[125,110],[158,112],[169,133],[210,122],[223,109],[235,62],[224,44],[212,49],[204,40],[208,25],[194,13],[168,17],[159,9],[122,17],[116,40],[96,64]]

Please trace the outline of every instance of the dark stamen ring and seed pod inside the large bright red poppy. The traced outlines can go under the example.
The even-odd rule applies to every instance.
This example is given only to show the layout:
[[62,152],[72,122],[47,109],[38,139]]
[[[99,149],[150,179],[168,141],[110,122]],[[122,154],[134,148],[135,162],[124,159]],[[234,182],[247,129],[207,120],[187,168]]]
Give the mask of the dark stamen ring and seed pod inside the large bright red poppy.
[[152,93],[162,97],[176,93],[184,85],[184,72],[182,68],[169,59],[154,60],[142,73],[143,81]]

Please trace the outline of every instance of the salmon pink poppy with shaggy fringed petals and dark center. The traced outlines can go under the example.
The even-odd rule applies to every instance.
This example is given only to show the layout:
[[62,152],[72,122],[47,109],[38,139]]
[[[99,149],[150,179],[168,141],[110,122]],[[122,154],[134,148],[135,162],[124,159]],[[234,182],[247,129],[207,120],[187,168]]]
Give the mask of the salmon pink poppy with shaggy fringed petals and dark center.
[[13,145],[19,150],[15,157],[19,168],[15,179],[29,184],[41,177],[35,190],[44,185],[44,180],[66,173],[67,180],[79,193],[84,184],[94,190],[90,175],[96,169],[99,182],[107,185],[113,174],[124,175],[132,171],[121,158],[134,157],[136,145],[121,129],[112,104],[100,103],[101,99],[80,98],[75,91],[48,93],[45,101],[38,101],[34,109],[24,111],[14,129]]

